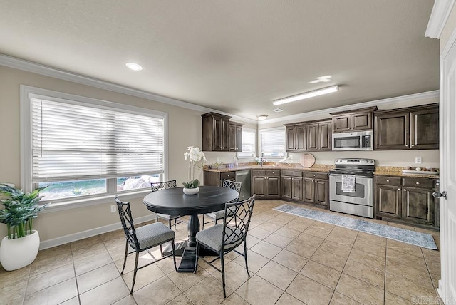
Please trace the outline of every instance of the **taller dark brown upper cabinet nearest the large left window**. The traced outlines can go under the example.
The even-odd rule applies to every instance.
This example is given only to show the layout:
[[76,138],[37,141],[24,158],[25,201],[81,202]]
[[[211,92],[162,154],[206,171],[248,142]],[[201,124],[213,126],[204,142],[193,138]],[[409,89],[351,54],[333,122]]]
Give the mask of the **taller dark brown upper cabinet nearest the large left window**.
[[229,151],[228,115],[204,113],[202,116],[202,150]]

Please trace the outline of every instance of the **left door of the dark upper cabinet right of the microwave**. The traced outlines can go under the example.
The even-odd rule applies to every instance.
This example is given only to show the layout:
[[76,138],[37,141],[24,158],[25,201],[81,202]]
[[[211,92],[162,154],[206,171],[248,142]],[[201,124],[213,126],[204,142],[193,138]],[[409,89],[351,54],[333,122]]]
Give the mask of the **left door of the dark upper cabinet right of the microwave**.
[[375,115],[375,150],[405,150],[409,148],[410,114],[385,113]]

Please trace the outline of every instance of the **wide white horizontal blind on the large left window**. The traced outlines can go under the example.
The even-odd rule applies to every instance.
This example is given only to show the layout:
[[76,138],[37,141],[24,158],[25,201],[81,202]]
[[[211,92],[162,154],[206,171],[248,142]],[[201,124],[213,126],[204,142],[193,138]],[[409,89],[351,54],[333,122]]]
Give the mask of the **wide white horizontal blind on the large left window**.
[[31,99],[32,182],[164,172],[164,118]]

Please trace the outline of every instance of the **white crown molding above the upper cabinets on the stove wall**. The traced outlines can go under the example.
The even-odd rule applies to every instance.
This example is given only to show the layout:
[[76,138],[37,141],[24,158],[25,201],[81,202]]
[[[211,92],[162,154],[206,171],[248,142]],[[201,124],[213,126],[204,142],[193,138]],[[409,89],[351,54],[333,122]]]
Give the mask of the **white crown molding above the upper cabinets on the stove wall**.
[[366,108],[366,107],[371,107],[371,106],[403,103],[403,102],[408,102],[408,101],[413,101],[413,100],[423,100],[425,98],[437,98],[438,96],[439,96],[439,91],[435,90],[435,91],[427,91],[427,92],[423,92],[423,93],[403,95],[403,96],[398,96],[395,98],[385,98],[383,100],[371,100],[371,101],[365,102],[365,103],[358,103],[358,104],[346,105],[346,106],[341,106],[341,107],[316,110],[316,111],[311,111],[308,113],[299,113],[296,115],[289,115],[289,116],[284,116],[281,118],[272,118],[270,120],[263,120],[261,122],[258,122],[258,125],[266,125],[269,123],[281,123],[281,122],[286,122],[286,121],[299,122],[299,121],[305,120],[306,118],[315,118],[315,117],[318,117],[321,115],[326,115],[328,118],[331,118],[331,115],[329,115],[329,113],[336,113],[339,111],[346,111],[346,110],[356,110],[359,108]]

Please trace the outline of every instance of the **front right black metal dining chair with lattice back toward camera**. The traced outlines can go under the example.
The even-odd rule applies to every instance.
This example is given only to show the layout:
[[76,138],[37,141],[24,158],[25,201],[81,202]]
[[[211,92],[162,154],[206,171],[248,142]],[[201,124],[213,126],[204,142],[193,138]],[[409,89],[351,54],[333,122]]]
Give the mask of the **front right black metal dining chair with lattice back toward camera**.
[[[231,251],[236,251],[236,247],[239,244],[244,242],[244,253],[237,252],[241,254],[245,259],[245,269],[247,270],[247,275],[249,274],[249,267],[247,264],[247,244],[246,237],[247,231],[249,230],[250,219],[252,217],[252,212],[254,210],[255,204],[255,195],[250,197],[247,200],[241,202],[227,203],[224,210],[223,224],[216,224],[214,227],[209,227],[202,231],[197,232],[197,246],[196,246],[196,258],[195,258],[195,270],[193,273],[197,272],[198,259],[202,259],[207,264],[211,265],[219,272],[222,273],[222,286],[223,286],[223,297],[227,297],[227,292],[225,291],[225,267],[224,267],[224,254],[227,254]],[[204,246],[208,249],[211,249],[214,252],[219,254],[219,257],[212,259],[208,262],[203,257],[198,256],[199,247]],[[212,262],[215,262],[217,259],[220,259],[222,269],[215,267]]]

